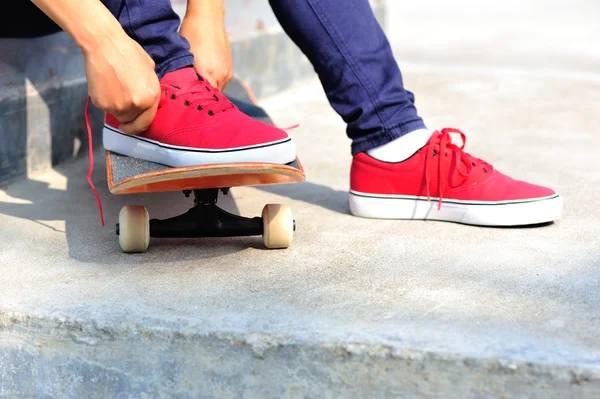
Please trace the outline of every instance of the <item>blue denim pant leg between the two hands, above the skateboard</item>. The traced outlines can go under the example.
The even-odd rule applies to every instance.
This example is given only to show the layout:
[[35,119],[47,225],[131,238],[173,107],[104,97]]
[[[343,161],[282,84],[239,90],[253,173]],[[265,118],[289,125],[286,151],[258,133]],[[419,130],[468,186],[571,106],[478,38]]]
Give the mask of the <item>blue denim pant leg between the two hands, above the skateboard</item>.
[[102,0],[102,3],[152,57],[159,79],[167,72],[194,65],[190,45],[179,35],[179,16],[170,0]]

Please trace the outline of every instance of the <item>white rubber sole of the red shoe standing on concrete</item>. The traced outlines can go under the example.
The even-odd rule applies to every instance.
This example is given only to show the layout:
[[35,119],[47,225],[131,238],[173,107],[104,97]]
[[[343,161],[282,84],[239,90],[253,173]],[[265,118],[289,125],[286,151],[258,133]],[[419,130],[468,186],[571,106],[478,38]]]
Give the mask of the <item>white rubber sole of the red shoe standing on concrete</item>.
[[552,222],[562,216],[558,194],[522,201],[475,202],[350,191],[350,212],[375,219],[442,220],[478,226],[524,226]]

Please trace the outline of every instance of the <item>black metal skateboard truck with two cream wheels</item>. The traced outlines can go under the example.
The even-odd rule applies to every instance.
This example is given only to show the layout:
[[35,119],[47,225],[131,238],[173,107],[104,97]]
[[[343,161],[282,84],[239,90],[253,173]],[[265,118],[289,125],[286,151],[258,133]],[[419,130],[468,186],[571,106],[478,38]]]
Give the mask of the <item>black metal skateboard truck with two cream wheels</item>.
[[[267,248],[286,248],[296,231],[296,221],[289,207],[266,205],[262,217],[247,218],[229,213],[217,205],[219,191],[228,188],[184,190],[186,197],[194,194],[194,206],[186,213],[169,219],[148,220],[141,206],[126,206],[121,210],[116,232],[125,252],[143,252],[150,237],[199,238],[245,237],[262,235]],[[130,245],[131,244],[131,245]],[[126,250],[131,248],[131,250]]]

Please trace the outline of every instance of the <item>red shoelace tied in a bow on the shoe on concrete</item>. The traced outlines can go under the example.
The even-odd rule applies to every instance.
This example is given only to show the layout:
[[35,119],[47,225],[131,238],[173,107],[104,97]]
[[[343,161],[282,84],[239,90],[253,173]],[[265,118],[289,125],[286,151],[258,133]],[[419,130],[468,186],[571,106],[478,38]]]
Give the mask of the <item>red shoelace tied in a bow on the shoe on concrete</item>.
[[[450,133],[458,133],[462,139],[462,145],[459,147],[456,144],[452,143],[452,137]],[[438,156],[438,167],[439,167],[439,175],[438,175],[438,189],[440,192],[440,196],[438,199],[438,210],[442,207],[442,199],[444,197],[444,191],[446,190],[446,180],[448,176],[448,168],[452,163],[452,158],[449,154],[453,153],[456,155],[456,163],[455,167],[458,170],[458,173],[463,177],[469,177],[473,168],[480,163],[485,164],[484,171],[487,172],[487,166],[490,166],[487,162],[482,161],[481,159],[477,159],[466,152],[463,151],[465,148],[465,144],[467,143],[467,137],[463,132],[458,129],[454,129],[451,127],[447,127],[442,129],[442,131],[433,132],[431,138],[429,139],[429,144],[427,146],[427,159],[425,160],[425,181],[427,183],[427,200],[431,201],[431,195],[429,190],[429,183],[431,182],[431,170],[434,167],[435,156]],[[437,147],[437,148],[436,148]],[[460,170],[460,164],[464,163],[466,165],[467,171],[463,172]]]

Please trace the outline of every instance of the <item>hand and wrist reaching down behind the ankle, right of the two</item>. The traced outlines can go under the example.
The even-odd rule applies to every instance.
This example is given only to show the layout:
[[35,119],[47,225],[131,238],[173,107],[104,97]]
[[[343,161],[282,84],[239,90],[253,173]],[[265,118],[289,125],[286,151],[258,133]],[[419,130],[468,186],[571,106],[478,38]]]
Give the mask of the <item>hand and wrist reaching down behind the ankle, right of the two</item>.
[[179,31],[190,42],[196,72],[221,91],[233,77],[224,13],[221,1],[189,0]]

